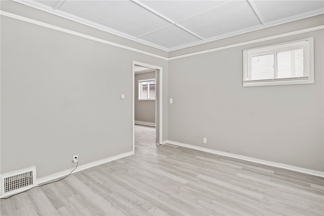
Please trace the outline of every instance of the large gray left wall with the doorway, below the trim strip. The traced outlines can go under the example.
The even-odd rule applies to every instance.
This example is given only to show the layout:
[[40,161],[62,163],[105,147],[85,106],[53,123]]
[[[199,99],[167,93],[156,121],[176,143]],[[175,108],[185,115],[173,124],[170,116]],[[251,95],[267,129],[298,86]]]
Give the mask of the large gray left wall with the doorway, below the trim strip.
[[35,165],[43,177],[74,154],[83,165],[131,152],[133,60],[163,67],[167,90],[166,60],[2,16],[1,173]]

